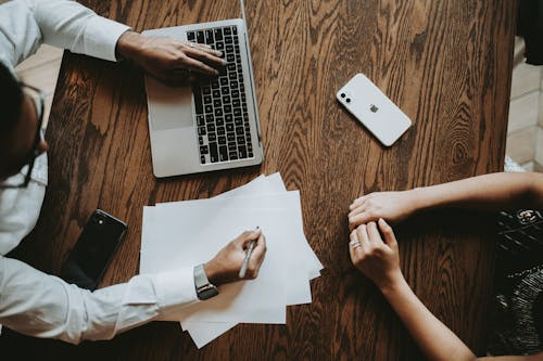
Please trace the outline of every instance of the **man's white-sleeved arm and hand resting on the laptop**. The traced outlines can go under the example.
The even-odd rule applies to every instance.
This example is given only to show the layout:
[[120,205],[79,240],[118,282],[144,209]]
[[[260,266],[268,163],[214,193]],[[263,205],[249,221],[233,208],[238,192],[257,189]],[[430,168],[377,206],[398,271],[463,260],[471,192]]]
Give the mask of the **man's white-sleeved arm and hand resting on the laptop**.
[[21,0],[0,5],[0,62],[13,67],[31,55],[41,42],[74,53],[117,61],[130,59],[151,75],[168,82],[185,82],[197,74],[217,75],[226,62],[207,46],[174,38],[150,38],[98,16],[68,0]]

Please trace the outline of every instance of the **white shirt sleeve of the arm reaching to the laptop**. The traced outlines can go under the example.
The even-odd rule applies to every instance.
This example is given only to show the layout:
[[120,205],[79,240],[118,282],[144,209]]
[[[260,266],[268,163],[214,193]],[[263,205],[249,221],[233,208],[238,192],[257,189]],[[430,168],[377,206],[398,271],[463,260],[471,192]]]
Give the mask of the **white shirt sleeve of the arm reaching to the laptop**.
[[0,61],[12,68],[41,42],[115,61],[118,38],[129,27],[70,0],[13,0],[0,5]]

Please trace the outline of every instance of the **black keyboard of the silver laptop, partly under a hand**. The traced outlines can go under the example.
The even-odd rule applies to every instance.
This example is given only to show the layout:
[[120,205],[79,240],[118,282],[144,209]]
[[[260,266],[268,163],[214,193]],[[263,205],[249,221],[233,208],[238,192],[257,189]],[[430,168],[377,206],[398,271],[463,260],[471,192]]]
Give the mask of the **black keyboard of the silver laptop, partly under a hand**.
[[227,65],[217,78],[192,85],[200,163],[253,157],[237,26],[187,31],[189,41],[223,52]]

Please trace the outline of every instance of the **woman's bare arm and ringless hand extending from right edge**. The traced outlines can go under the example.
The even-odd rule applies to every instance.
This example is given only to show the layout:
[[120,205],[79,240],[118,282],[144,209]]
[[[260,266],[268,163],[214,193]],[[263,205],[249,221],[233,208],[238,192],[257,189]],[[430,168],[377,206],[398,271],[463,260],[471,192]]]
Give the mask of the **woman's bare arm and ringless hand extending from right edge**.
[[351,229],[386,218],[401,221],[414,212],[437,207],[500,210],[515,207],[543,207],[543,175],[491,173],[414,189],[364,195],[350,206]]

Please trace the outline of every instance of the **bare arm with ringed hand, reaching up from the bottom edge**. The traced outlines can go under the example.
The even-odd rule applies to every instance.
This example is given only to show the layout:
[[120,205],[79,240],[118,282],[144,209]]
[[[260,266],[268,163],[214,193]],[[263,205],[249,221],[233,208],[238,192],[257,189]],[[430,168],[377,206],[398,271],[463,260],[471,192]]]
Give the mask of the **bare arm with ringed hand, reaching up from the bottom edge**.
[[[379,227],[379,229],[378,229]],[[383,234],[383,238],[379,231]],[[351,232],[353,265],[382,292],[429,360],[476,360],[471,350],[415,296],[401,270],[397,242],[384,220],[369,222]],[[541,354],[540,354],[541,356]],[[530,360],[527,357],[483,358]]]

